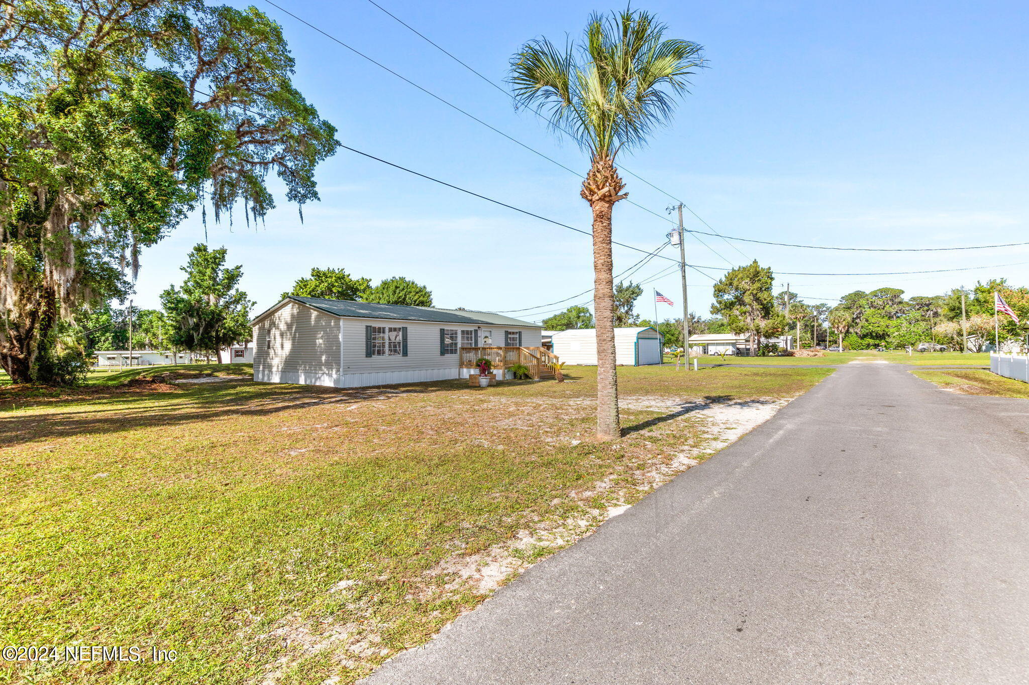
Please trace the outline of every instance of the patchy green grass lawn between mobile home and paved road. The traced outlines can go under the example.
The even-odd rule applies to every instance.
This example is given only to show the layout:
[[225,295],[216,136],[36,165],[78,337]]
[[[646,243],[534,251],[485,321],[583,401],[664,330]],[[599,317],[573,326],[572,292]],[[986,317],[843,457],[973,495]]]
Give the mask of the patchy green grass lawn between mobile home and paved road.
[[115,385],[161,371],[0,388],[0,643],[178,659],[0,662],[0,682],[260,682],[280,658],[281,683],[352,682],[484,599],[441,562],[632,503],[648,467],[707,454],[703,420],[662,402],[760,403],[831,373],[624,368],[627,434],[598,445],[593,368],[490,388]]

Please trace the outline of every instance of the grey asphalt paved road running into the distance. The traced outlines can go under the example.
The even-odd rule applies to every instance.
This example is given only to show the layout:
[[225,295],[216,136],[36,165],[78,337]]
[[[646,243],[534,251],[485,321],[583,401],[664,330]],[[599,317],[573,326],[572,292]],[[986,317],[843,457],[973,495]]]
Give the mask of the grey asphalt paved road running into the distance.
[[1027,431],[848,365],[366,682],[1029,683]]

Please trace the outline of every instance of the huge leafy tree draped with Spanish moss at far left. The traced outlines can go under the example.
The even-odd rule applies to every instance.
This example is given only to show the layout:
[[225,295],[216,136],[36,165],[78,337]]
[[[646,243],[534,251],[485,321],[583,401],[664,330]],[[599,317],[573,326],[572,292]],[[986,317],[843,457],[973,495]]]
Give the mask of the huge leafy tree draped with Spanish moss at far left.
[[[3,2],[0,366],[49,382],[62,320],[131,291],[194,207],[247,221],[317,199],[335,129],[290,81],[280,27],[202,0]],[[206,215],[205,215],[206,216]]]

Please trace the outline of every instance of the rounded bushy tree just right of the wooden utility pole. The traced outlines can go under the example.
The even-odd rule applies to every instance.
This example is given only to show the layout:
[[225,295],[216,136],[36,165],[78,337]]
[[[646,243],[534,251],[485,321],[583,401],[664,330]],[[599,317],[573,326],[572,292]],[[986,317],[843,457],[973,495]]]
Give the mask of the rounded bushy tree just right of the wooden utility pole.
[[747,334],[750,349],[757,349],[767,324],[776,313],[772,295],[772,269],[754,260],[725,273],[714,284],[711,313],[722,316],[735,334]]

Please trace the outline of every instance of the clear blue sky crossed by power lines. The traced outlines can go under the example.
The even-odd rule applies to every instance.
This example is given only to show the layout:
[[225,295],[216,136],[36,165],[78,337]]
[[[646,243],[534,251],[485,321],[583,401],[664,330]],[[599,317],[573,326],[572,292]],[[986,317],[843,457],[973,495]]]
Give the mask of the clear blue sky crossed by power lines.
[[[526,40],[577,37],[582,2],[377,0],[500,82]],[[234,3],[243,6],[249,3]],[[284,27],[295,84],[346,145],[582,229],[579,180],[328,38],[257,0]],[[566,166],[588,160],[535,115],[467,72],[367,0],[282,4]],[[726,235],[846,246],[927,248],[1029,240],[1029,5],[1009,2],[648,2],[669,36],[705,46],[709,68],[671,126],[625,154],[622,166],[681,198]],[[630,198],[660,215],[673,200],[626,175]],[[263,225],[242,215],[208,226],[208,242],[242,264],[257,310],[311,267],[374,280],[425,283],[437,306],[519,310],[592,286],[588,236],[341,150],[318,172],[322,200],[285,201]],[[279,187],[274,187],[279,197]],[[646,249],[671,224],[627,202],[615,239]],[[686,213],[686,227],[708,230]],[[142,256],[136,302],[158,306],[185,255],[204,240],[199,212]],[[729,267],[756,258],[777,272],[884,272],[1029,262],[1025,248],[951,253],[837,253],[687,239],[687,261]],[[671,249],[663,254],[674,256]],[[641,255],[615,249],[615,271]],[[672,263],[655,259],[633,278]],[[717,277],[717,271],[709,271]],[[1029,264],[926,276],[777,275],[809,298],[883,286],[932,295],[1005,276],[1029,283]],[[688,274],[690,309],[706,315],[711,279]],[[678,275],[647,284],[678,305]],[[589,300],[586,296],[565,304]],[[811,299],[809,302],[819,300]],[[564,306],[564,305],[561,305]],[[538,320],[560,307],[525,312]],[[647,294],[637,311],[652,316]],[[662,316],[678,311],[663,305]],[[523,314],[519,314],[523,315]]]

